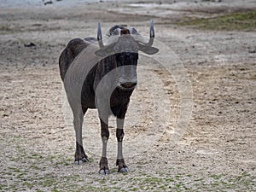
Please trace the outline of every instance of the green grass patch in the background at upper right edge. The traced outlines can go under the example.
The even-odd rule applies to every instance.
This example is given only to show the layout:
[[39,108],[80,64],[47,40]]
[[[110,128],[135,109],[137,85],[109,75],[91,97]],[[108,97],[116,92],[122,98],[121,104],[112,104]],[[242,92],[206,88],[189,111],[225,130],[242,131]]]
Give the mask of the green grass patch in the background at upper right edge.
[[179,26],[195,26],[204,30],[256,31],[256,10],[235,12],[213,18],[186,17],[177,23]]

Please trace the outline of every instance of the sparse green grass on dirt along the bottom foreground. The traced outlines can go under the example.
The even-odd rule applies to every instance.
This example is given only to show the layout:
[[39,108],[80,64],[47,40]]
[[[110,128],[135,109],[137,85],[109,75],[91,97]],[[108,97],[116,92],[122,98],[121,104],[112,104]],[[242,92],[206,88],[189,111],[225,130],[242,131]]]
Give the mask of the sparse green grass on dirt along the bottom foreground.
[[[20,141],[18,137],[16,143],[17,140]],[[141,171],[123,175],[113,167],[110,176],[73,174],[73,166],[68,166],[73,159],[64,154],[38,153],[26,150],[22,143],[19,146],[15,148],[18,154],[15,155],[18,157],[16,164],[0,171],[3,180],[8,181],[1,183],[0,191],[38,191],[38,188],[43,191],[253,191],[255,188],[254,177],[249,172],[237,176],[211,174],[198,177],[177,168],[178,172],[149,174]]]

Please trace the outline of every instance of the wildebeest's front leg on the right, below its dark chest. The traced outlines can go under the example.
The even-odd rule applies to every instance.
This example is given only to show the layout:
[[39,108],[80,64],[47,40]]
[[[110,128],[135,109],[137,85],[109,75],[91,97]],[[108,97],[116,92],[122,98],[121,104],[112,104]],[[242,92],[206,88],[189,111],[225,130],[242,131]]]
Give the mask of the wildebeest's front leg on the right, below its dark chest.
[[125,136],[124,122],[125,122],[125,119],[117,118],[116,137],[118,141],[118,155],[116,160],[116,166],[119,166],[118,172],[129,172],[129,169],[125,165],[125,160],[123,157],[123,138]]

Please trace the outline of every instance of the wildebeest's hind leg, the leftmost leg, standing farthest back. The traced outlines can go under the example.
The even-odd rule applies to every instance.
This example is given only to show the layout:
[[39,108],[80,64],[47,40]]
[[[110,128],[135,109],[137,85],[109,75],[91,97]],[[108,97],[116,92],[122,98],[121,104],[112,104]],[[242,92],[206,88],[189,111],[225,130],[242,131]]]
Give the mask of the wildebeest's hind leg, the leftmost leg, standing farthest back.
[[[87,109],[83,109],[84,113]],[[84,121],[84,113],[77,111],[73,113],[73,125],[76,132],[76,152],[75,152],[75,164],[79,165],[81,162],[87,162],[88,157],[84,153],[83,139],[82,139],[82,125]]]

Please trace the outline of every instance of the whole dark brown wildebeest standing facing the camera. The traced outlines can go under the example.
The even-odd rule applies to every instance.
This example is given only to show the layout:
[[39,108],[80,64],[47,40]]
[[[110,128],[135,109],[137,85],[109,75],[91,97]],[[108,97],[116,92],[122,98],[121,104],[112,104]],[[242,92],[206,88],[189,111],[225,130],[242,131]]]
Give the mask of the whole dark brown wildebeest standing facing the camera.
[[104,45],[101,26],[98,24],[97,39],[75,38],[62,51],[59,67],[67,100],[73,111],[76,164],[89,161],[83,148],[82,125],[87,109],[97,108],[102,128],[100,173],[109,174],[107,143],[108,117],[111,114],[117,118],[116,166],[119,166],[118,172],[129,172],[122,153],[124,119],[130,96],[137,85],[138,51],[141,50],[148,55],[158,52],[158,49],[152,47],[154,43],[152,20],[149,33],[149,41],[145,42],[135,28],[113,26]]

